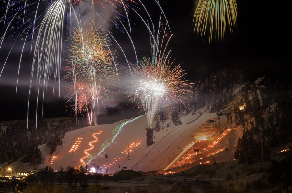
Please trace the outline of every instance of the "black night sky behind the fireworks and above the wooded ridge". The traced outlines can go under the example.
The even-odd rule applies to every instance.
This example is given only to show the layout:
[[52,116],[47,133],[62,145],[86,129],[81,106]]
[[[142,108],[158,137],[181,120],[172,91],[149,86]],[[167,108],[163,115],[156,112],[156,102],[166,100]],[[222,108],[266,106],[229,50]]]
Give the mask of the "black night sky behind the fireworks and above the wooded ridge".
[[[169,20],[171,38],[167,51],[171,50],[171,59],[175,59],[174,65],[180,63],[181,67],[188,73],[187,80],[199,80],[211,72],[218,69],[237,68],[255,70],[261,76],[266,74],[274,80],[289,81],[291,65],[291,36],[288,30],[288,6],[280,5],[277,1],[242,1],[237,0],[238,19],[237,26],[232,34],[227,35],[224,40],[212,40],[211,46],[208,38],[205,43],[194,36],[194,26],[192,25],[194,16],[195,1],[159,1]],[[283,4],[283,3],[282,3]],[[145,6],[153,18],[155,27],[158,26],[160,11],[152,1],[146,1]],[[142,10],[141,10],[142,12]],[[130,17],[134,17],[130,13]],[[141,14],[143,17],[143,13]],[[164,17],[161,18],[165,24]],[[138,54],[138,59],[142,55],[150,55],[149,34],[144,24],[138,17],[133,18],[132,38]],[[3,23],[1,23],[3,27]],[[169,30],[166,31],[169,34]],[[117,30],[113,30],[113,35],[121,44],[130,62],[135,62],[130,41],[121,35]],[[10,49],[9,41],[0,50],[0,67],[6,59]],[[20,45],[19,45],[20,46]],[[15,53],[19,52],[19,46]],[[120,54],[120,51],[118,51]],[[18,92],[16,91],[16,78],[20,54],[13,56],[4,69],[0,78],[0,121],[25,119],[27,116],[27,99],[29,90],[31,55],[25,52],[20,68],[20,82]],[[118,58],[121,66],[125,66],[124,58]],[[49,85],[47,101],[44,103],[44,114],[49,117],[66,117],[70,109],[68,103],[65,104],[66,91],[61,90],[60,99],[58,94],[52,92],[53,82]],[[121,90],[125,90],[123,87]],[[120,93],[122,95],[122,93]],[[32,98],[35,98],[32,92]],[[122,96],[115,96],[116,104],[109,104],[111,107],[120,110],[124,108],[127,101]],[[40,105],[41,106],[41,105]],[[35,114],[36,101],[30,102],[30,117]],[[41,112],[41,108],[39,108]]]

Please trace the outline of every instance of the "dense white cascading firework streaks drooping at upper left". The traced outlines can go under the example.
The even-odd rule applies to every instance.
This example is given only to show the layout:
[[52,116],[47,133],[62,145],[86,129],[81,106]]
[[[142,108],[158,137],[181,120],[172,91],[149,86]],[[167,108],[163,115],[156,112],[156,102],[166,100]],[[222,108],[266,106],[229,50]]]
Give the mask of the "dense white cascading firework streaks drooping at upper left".
[[[41,87],[42,81],[44,81],[44,86],[48,85],[48,80],[51,74],[55,78],[58,78],[59,83],[59,97],[60,97],[60,66],[62,60],[62,54],[59,52],[62,50],[62,41],[63,41],[63,23],[64,23],[64,10],[66,6],[66,0],[58,0],[53,3],[53,5],[46,12],[44,19],[39,27],[38,36],[36,39],[36,50],[34,51],[33,62],[32,62],[32,71],[31,71],[31,80],[30,80],[30,89],[28,97],[28,106],[29,108],[29,99],[30,92],[32,88],[33,75],[34,75],[34,66],[37,64],[37,75],[36,75],[36,87],[37,92]],[[42,34],[46,34],[43,37]],[[24,43],[25,45],[25,43]],[[41,46],[39,48],[38,46]],[[53,54],[52,54],[53,53]],[[55,64],[55,65],[54,65]],[[20,63],[19,63],[20,68]],[[18,82],[18,80],[17,80]],[[39,100],[39,93],[37,94],[37,101]],[[43,98],[44,101],[44,98]],[[37,109],[37,108],[36,108]],[[28,113],[27,113],[27,127],[28,127]],[[37,118],[36,118],[37,122]],[[37,127],[37,126],[36,126]]]

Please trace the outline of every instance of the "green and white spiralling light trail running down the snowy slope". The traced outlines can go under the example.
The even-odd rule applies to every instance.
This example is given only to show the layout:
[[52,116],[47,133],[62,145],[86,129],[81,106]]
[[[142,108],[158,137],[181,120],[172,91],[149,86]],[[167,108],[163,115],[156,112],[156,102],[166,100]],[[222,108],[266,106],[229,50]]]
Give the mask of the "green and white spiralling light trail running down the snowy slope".
[[119,140],[118,138],[118,134],[121,133],[121,132],[124,132],[124,129],[125,127],[127,127],[127,124],[128,123],[131,123],[133,121],[135,121],[136,119],[142,117],[144,115],[140,115],[139,117],[136,117],[134,119],[131,119],[131,120],[128,120],[126,122],[123,122],[121,125],[118,125],[113,131],[112,131],[112,138],[109,138],[107,139],[102,145],[101,145],[101,148],[99,149],[99,152],[98,153],[93,153],[91,154],[89,157],[88,157],[88,163],[87,164],[90,164],[90,162],[93,160],[93,159],[98,159],[100,157],[103,156],[104,154],[104,150],[105,148],[108,148],[108,147],[112,147],[114,145],[117,145],[117,141]]

